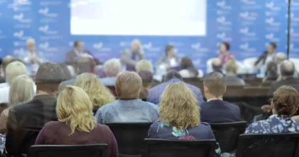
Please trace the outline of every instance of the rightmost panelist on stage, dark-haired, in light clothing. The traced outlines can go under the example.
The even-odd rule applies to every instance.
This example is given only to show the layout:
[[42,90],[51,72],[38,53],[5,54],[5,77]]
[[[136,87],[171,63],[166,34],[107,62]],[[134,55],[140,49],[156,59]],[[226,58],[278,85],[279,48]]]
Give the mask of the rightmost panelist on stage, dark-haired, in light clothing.
[[255,68],[261,71],[262,76],[265,76],[267,64],[270,61],[274,61],[276,48],[277,45],[275,43],[269,43],[267,51],[264,51],[254,63]]

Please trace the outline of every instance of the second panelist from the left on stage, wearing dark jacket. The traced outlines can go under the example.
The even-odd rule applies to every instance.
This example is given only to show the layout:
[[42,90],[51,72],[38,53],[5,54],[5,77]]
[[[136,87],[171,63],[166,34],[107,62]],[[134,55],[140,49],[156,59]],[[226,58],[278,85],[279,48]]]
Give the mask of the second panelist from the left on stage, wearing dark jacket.
[[84,43],[81,40],[76,40],[74,42],[74,49],[72,51],[66,53],[66,61],[65,62],[67,65],[74,65],[74,63],[76,62],[76,59],[78,59],[79,57],[85,57],[85,56],[92,57],[96,65],[101,64],[101,62],[98,59],[94,58],[94,56],[90,52],[84,50]]

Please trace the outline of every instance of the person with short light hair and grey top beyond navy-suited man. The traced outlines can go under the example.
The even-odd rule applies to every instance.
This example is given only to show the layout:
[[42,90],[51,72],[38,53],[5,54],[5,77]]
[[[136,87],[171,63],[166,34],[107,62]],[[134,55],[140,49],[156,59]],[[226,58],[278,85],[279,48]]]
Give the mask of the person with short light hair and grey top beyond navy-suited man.
[[238,65],[235,60],[229,60],[225,64],[226,75],[224,77],[225,84],[227,86],[242,86],[245,85],[245,81],[237,77]]

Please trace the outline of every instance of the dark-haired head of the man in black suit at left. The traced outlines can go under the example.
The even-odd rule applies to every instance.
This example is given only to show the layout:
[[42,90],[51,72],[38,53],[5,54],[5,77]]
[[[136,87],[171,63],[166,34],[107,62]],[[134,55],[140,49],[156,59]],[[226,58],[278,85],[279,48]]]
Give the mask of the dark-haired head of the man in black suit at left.
[[63,70],[59,64],[43,63],[35,74],[36,90],[45,91],[48,94],[56,94],[63,80]]

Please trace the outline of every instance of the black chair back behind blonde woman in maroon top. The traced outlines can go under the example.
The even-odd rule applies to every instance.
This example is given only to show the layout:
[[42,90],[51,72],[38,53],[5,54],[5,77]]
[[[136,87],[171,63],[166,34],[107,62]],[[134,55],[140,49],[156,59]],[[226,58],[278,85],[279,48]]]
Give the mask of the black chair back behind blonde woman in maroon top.
[[28,157],[107,157],[107,144],[34,145]]

